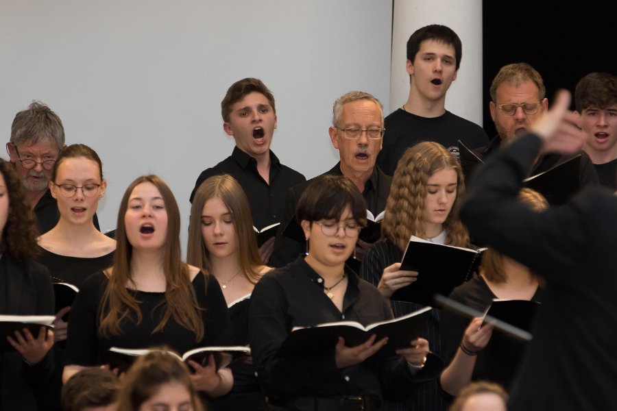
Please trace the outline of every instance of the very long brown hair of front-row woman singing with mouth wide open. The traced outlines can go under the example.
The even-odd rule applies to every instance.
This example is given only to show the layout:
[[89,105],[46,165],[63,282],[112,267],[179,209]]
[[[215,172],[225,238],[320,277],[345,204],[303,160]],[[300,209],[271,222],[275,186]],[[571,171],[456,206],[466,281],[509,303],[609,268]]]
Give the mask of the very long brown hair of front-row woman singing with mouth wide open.
[[133,246],[126,236],[124,216],[128,208],[128,201],[134,188],[139,184],[150,183],[160,192],[167,210],[167,238],[165,239],[165,253],[163,256],[163,271],[165,272],[165,314],[152,333],[165,327],[173,316],[182,327],[195,334],[195,342],[204,337],[204,323],[195,297],[195,290],[189,276],[189,266],[182,262],[180,251],[180,210],[169,186],[156,175],[138,177],[124,192],[118,212],[116,230],[117,248],[114,253],[114,265],[108,273],[106,286],[99,306],[99,332],[103,336],[121,334],[120,323],[123,319],[136,316],[136,323],[141,323],[142,312],[139,301],[127,289],[132,279],[131,258]]

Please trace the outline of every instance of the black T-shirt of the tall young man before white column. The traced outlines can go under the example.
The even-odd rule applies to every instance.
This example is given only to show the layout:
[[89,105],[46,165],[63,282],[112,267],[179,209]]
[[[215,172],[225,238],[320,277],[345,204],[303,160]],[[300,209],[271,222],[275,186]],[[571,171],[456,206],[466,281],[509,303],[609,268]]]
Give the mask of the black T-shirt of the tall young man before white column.
[[421,141],[435,141],[458,158],[461,140],[470,149],[485,145],[489,139],[484,129],[447,111],[439,117],[422,117],[398,109],[385,118],[383,149],[377,155],[377,165],[388,175],[394,175],[398,160],[405,150]]

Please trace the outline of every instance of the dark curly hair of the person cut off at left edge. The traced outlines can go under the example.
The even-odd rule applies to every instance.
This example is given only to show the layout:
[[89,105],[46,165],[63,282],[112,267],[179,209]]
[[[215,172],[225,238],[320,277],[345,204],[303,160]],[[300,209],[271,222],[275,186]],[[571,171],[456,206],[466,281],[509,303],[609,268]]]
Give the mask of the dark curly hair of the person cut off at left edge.
[[0,253],[8,251],[18,261],[34,258],[38,254],[38,232],[25,189],[10,162],[0,159],[0,173],[8,196],[8,216],[0,238]]

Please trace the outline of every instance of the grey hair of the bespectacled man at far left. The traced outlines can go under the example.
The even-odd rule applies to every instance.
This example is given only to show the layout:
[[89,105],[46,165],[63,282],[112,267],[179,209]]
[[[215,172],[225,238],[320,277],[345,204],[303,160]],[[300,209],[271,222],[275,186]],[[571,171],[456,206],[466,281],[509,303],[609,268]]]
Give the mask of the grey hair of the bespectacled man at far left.
[[60,117],[40,101],[32,101],[26,110],[15,114],[11,125],[13,145],[51,141],[58,151],[64,147],[64,127]]

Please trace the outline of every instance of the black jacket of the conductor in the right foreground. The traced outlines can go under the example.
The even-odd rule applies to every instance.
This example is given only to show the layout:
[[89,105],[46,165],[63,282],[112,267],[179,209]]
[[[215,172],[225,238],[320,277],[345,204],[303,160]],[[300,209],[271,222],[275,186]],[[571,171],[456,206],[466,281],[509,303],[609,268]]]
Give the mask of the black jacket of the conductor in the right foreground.
[[564,206],[530,210],[517,196],[540,146],[527,135],[494,154],[461,208],[472,234],[546,279],[509,409],[609,410],[617,381],[617,197],[588,188]]

